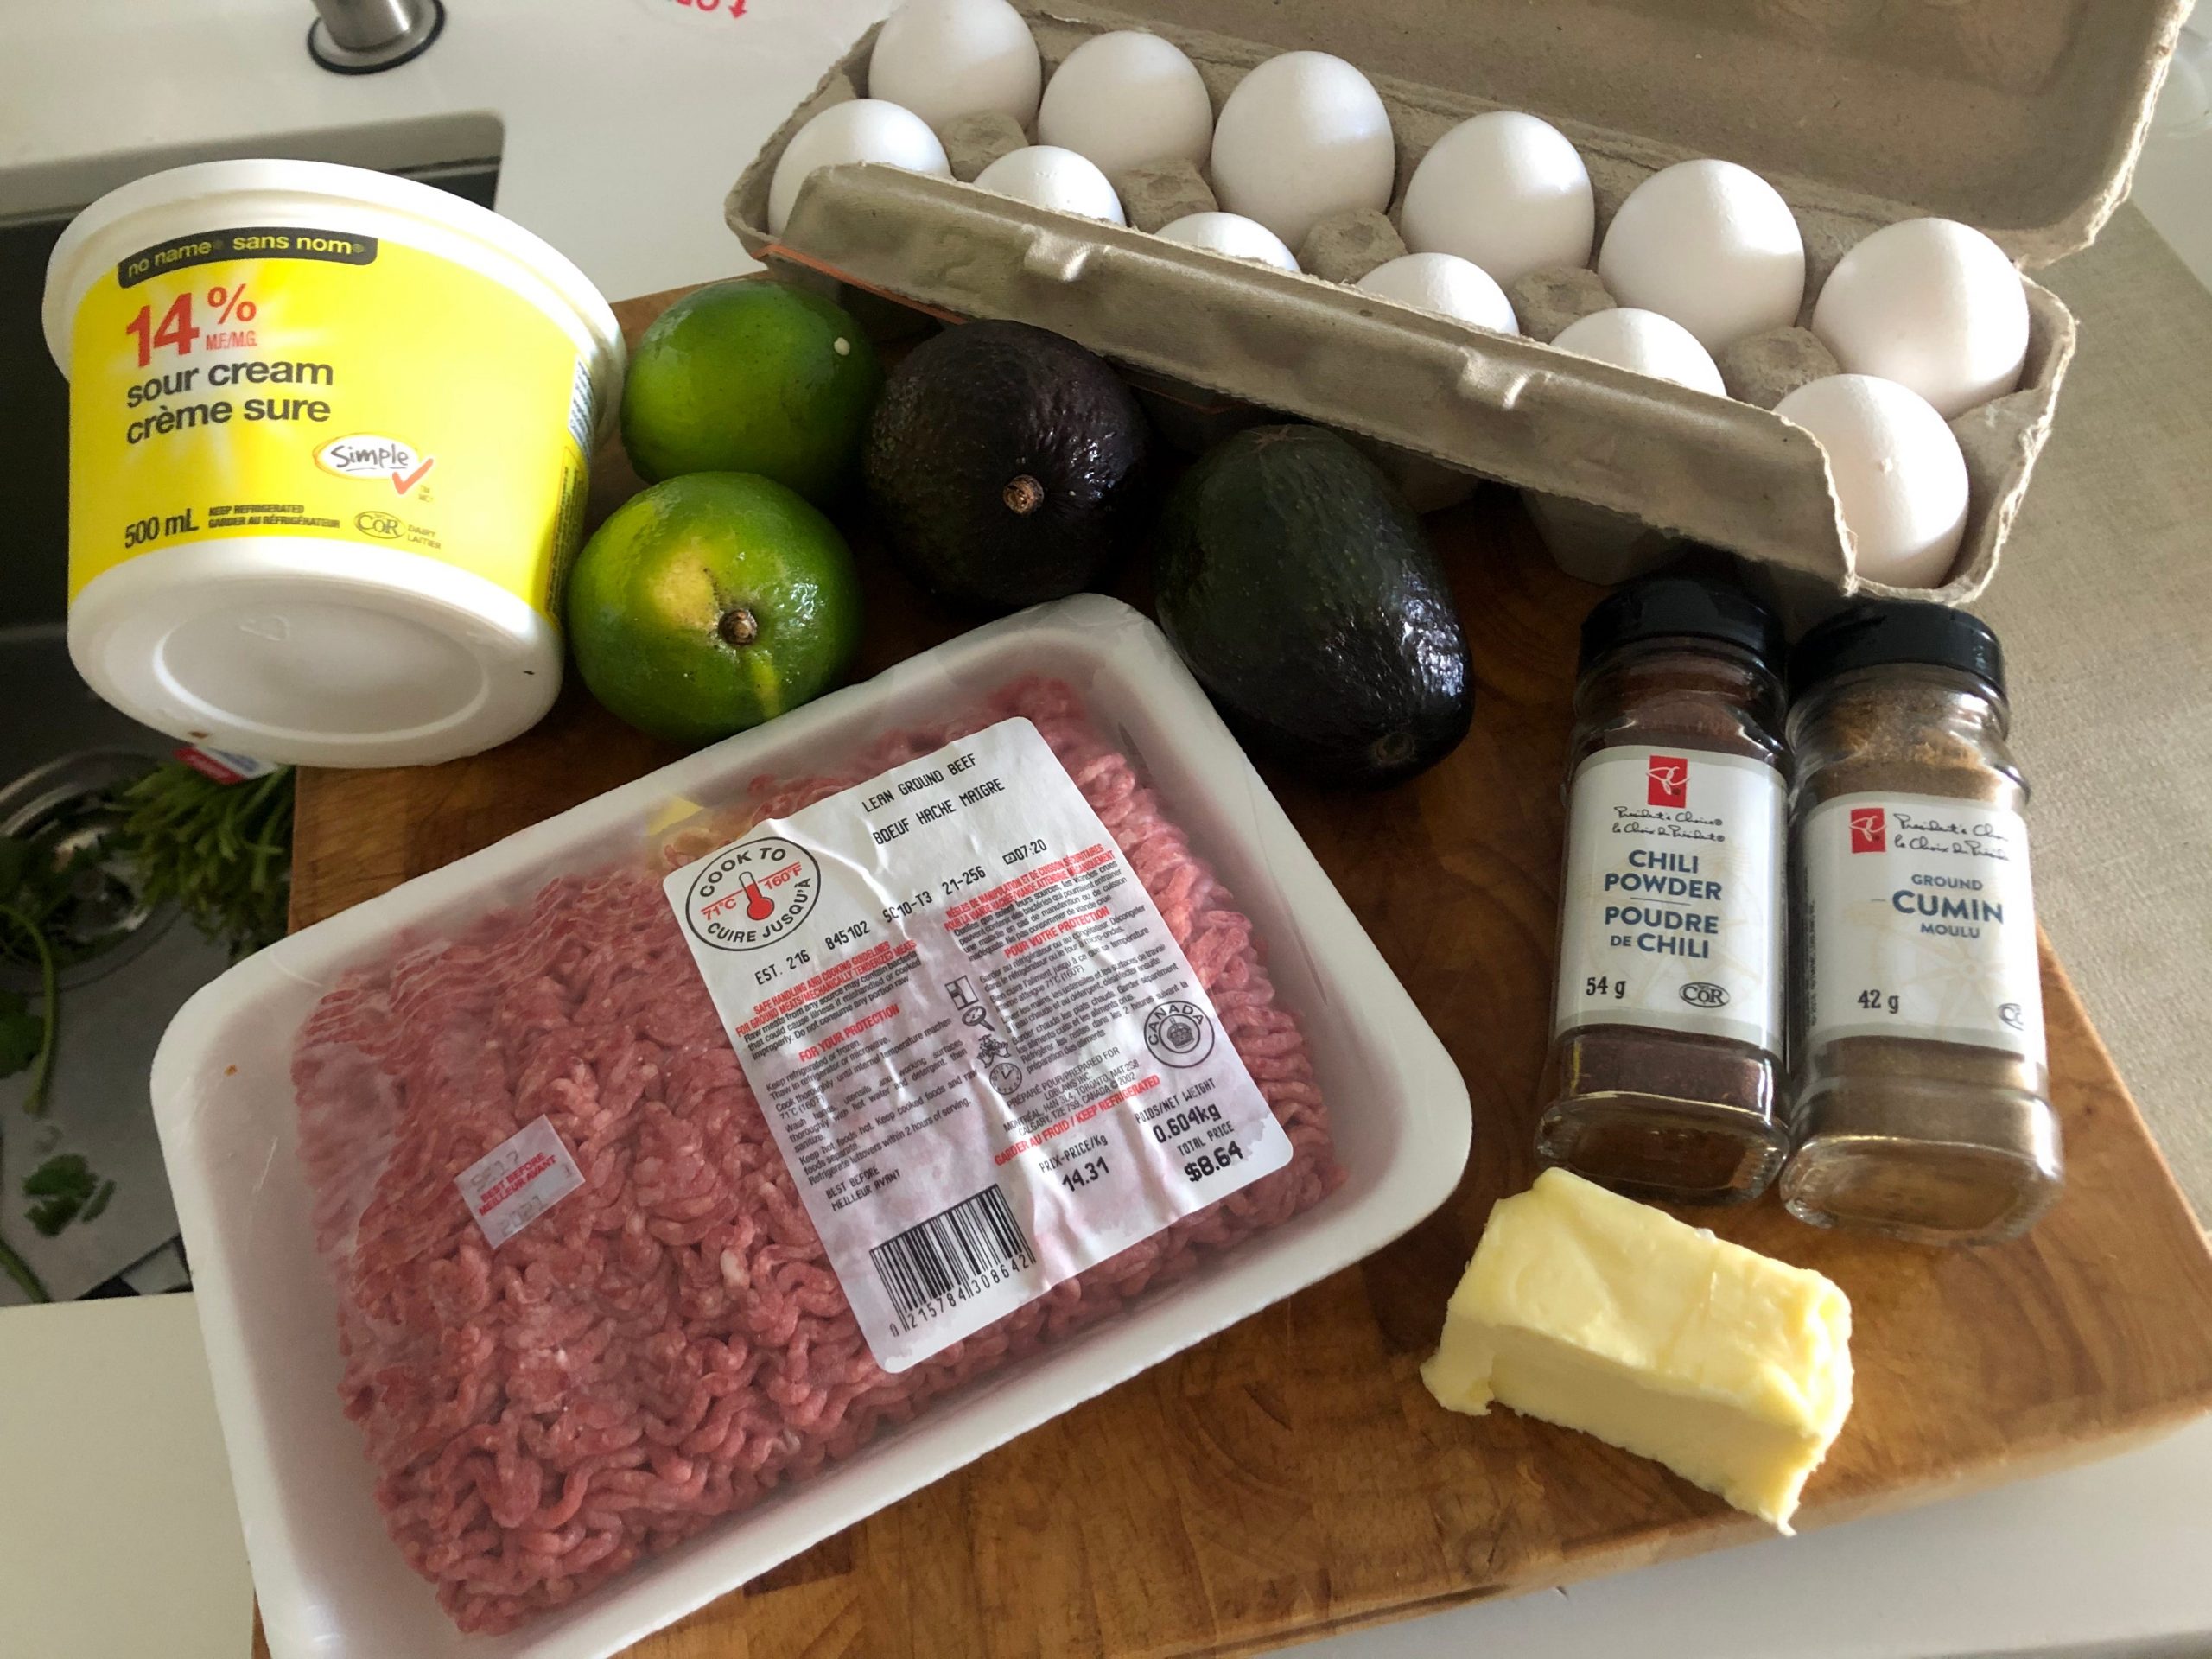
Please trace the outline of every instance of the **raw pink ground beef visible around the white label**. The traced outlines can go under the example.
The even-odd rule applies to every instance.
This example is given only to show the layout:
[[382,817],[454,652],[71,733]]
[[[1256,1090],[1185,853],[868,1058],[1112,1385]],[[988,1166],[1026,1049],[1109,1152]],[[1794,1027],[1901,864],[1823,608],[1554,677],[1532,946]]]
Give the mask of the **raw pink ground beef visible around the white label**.
[[[1290,1135],[1287,1168],[891,1376],[876,1367],[659,878],[763,816],[1026,714],[1128,854]],[[630,867],[549,883],[323,998],[292,1060],[345,1411],[407,1562],[509,1630],[803,1480],[927,1400],[1316,1203],[1343,1181],[1252,925],[1055,681]],[[493,1252],[453,1186],[538,1115],[586,1186]]]

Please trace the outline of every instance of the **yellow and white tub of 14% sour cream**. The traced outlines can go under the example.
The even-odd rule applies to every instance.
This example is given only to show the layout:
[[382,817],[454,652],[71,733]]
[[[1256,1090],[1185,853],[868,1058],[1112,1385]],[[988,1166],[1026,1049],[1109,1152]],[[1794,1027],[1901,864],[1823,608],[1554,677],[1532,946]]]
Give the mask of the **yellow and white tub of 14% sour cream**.
[[208,161],[46,268],[69,653],[126,714],[307,765],[491,748],[560,690],[560,591],[622,392],[599,292],[425,184]]

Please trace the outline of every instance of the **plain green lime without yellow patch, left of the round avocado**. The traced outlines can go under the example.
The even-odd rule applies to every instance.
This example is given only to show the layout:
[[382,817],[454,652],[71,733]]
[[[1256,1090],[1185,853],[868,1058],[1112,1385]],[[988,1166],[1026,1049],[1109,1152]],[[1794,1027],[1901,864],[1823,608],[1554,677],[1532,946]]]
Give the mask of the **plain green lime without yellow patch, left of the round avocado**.
[[622,447],[639,478],[761,473],[812,502],[852,478],[883,365],[841,307],[765,276],[661,312],[630,356]]

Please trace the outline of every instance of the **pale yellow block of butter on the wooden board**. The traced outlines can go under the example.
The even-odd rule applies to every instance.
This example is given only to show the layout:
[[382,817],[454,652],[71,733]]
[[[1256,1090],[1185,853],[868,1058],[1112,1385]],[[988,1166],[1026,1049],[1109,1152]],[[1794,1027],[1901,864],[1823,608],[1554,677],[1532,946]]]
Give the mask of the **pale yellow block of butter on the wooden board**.
[[1851,1303],[1566,1170],[1491,1210],[1422,1371],[1453,1411],[1502,1400],[1657,1458],[1790,1531],[1851,1411]]

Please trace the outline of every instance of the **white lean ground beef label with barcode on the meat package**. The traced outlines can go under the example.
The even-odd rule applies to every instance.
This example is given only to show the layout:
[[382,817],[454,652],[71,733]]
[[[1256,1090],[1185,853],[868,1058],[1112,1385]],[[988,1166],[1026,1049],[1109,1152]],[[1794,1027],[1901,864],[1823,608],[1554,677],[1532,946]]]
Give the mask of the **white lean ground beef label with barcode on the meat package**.
[[1026,719],[763,821],[666,891],[887,1371],[1290,1164]]

